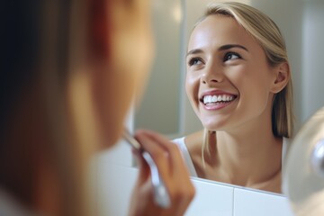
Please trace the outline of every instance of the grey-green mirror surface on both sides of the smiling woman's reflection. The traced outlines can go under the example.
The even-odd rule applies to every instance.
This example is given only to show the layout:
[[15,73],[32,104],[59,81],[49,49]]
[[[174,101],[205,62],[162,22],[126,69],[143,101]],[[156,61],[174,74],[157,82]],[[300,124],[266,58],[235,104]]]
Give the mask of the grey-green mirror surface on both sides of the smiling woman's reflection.
[[[184,92],[185,53],[193,24],[211,0],[153,1],[157,54],[147,92],[135,112],[134,125],[169,139],[202,130]],[[324,49],[324,2],[317,0],[240,0],[269,15],[279,26],[293,74],[295,131],[324,105],[321,50]]]

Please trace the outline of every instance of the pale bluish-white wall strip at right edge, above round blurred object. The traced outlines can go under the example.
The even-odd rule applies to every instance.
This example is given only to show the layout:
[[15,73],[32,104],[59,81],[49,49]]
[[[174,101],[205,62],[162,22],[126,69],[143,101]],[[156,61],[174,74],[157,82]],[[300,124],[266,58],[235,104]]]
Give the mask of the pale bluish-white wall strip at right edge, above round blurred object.
[[302,121],[324,106],[324,1],[304,1]]

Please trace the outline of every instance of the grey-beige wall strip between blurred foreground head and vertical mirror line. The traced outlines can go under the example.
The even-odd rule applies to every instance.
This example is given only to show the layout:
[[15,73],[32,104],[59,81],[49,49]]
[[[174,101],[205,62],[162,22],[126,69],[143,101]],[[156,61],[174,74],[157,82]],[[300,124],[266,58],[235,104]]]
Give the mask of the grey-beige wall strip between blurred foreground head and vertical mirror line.
[[135,128],[178,133],[181,21],[181,0],[152,1],[156,56],[147,91],[136,111]]

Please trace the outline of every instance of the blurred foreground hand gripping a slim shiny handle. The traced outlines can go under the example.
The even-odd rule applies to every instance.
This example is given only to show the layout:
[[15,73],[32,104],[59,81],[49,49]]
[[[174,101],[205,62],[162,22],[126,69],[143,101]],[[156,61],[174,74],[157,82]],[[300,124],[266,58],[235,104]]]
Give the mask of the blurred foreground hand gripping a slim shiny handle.
[[148,130],[138,130],[135,138],[155,161],[169,193],[171,205],[163,209],[154,202],[149,166],[137,153],[139,177],[130,201],[130,215],[184,215],[195,192],[179,148],[168,139]]

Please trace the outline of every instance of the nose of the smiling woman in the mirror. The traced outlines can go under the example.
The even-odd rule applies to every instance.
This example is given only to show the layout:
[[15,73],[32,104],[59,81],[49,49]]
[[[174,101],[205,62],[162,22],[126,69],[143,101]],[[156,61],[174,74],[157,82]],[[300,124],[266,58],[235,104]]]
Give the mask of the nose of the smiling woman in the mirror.
[[220,83],[224,79],[224,74],[220,67],[210,64],[204,68],[201,76],[202,84]]

